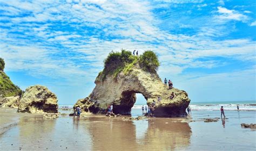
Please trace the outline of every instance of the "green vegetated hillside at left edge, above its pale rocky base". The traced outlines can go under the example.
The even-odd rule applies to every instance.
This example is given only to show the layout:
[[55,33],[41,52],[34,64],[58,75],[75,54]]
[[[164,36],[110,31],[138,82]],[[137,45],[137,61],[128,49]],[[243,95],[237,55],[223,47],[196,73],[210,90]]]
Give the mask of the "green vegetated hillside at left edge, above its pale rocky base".
[[4,60],[0,58],[0,96],[21,96],[22,90],[11,82],[10,78],[4,73]]

